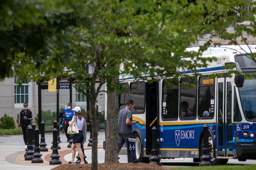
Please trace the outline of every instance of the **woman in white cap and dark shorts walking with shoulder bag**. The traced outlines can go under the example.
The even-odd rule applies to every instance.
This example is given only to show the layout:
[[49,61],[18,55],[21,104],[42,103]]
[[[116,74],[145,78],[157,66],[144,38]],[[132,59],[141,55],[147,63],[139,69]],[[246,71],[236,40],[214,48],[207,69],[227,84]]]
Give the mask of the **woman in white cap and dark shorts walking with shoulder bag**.
[[76,148],[78,150],[81,162],[80,164],[84,164],[84,153],[81,149],[81,144],[84,144],[86,141],[86,132],[87,132],[87,124],[84,117],[81,115],[81,108],[76,106],[72,109],[75,115],[72,117],[72,120],[68,122],[69,125],[72,125],[73,122],[76,121],[77,128],[79,133],[73,135],[73,144],[71,145],[72,151],[72,159],[69,161],[69,164],[76,164],[75,163],[75,156],[76,156]]

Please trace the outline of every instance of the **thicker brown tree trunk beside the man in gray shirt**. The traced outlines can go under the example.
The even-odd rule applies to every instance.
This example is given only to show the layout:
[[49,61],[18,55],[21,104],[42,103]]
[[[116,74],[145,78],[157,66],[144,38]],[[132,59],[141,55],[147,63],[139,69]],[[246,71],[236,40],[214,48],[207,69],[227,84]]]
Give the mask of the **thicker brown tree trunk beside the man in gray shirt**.
[[108,92],[105,162],[118,162],[118,95]]

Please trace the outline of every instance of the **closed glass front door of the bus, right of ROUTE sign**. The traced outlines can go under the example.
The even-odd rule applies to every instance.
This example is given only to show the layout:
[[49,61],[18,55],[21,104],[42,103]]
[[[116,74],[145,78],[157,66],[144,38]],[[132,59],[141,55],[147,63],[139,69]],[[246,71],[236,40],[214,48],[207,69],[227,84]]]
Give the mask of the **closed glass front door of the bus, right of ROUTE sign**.
[[233,88],[229,77],[217,79],[217,156],[232,156]]

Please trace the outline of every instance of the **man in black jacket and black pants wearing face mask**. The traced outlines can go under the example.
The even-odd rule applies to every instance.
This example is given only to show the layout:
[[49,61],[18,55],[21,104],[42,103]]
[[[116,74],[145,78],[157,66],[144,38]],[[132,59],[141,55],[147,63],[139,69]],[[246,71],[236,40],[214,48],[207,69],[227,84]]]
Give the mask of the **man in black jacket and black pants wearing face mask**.
[[22,133],[23,133],[23,140],[25,143],[24,149],[27,148],[27,129],[28,125],[31,124],[31,121],[33,120],[33,114],[32,111],[28,109],[28,103],[23,104],[23,109],[20,111],[20,116],[19,116],[19,126],[18,129],[20,130],[20,126],[22,128]]

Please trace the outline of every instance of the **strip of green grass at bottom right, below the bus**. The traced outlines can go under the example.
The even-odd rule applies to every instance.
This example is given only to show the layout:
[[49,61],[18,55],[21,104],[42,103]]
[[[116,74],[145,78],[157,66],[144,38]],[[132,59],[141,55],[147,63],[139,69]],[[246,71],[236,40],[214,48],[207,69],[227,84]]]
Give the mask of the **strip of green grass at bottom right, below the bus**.
[[255,170],[256,165],[218,165],[199,167],[172,167],[170,170]]

